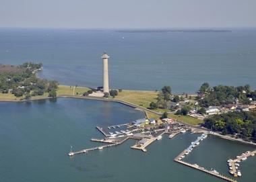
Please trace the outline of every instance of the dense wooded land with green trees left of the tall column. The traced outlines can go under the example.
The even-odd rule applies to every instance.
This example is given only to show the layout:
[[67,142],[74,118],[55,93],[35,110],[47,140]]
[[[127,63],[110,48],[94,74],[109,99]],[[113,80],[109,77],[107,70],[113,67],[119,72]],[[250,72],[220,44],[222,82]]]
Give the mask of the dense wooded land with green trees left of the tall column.
[[0,91],[12,93],[15,97],[44,95],[56,97],[59,83],[36,77],[36,71],[42,68],[42,64],[25,62],[20,66],[0,65]]

